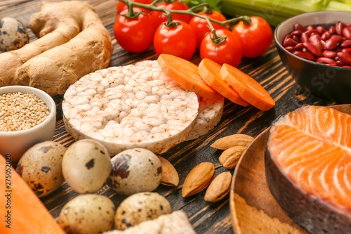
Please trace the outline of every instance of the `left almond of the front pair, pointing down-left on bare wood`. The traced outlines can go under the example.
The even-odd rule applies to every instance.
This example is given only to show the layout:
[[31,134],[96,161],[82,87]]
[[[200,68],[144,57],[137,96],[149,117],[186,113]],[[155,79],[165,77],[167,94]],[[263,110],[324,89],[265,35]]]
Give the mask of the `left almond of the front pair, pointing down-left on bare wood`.
[[185,178],[182,195],[189,197],[204,190],[215,176],[215,166],[211,162],[201,162]]

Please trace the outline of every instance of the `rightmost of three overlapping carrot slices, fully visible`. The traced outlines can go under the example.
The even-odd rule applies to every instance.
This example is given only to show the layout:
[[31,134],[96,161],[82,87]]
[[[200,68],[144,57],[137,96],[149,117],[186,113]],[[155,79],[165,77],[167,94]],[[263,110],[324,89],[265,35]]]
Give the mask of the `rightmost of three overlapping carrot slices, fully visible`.
[[275,102],[263,86],[237,67],[223,64],[220,74],[224,81],[248,103],[260,110],[270,110]]

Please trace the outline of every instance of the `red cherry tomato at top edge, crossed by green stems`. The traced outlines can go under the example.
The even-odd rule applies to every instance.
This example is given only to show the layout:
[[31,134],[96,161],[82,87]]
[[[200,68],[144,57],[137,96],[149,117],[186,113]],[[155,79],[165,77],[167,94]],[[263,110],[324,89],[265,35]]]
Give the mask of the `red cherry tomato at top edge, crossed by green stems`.
[[[171,4],[167,4],[165,2],[161,2],[160,4],[157,4],[158,8],[166,8],[168,10],[187,10],[189,7],[187,4],[183,4],[181,1],[173,1]],[[164,12],[162,11],[152,11],[152,17],[154,18],[154,22],[156,26],[161,25],[162,22],[167,21],[167,16]],[[182,20],[184,22],[190,22],[190,19],[192,18],[192,15],[185,15],[185,14],[172,14],[172,19],[173,20]]]

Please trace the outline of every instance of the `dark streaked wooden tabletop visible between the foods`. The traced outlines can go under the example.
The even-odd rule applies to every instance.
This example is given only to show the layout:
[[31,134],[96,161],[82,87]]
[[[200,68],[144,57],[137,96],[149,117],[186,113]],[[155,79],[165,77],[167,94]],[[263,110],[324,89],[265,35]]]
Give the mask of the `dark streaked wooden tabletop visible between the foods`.
[[[102,22],[112,35],[114,53],[110,66],[119,66],[135,63],[138,60],[156,59],[152,47],[143,53],[128,53],[124,51],[116,39],[113,37],[113,25],[116,18],[116,0],[88,0],[100,15]],[[32,13],[39,11],[41,1],[23,0],[3,0],[0,1],[0,18],[13,17],[20,20],[29,30],[28,22]],[[30,41],[36,39],[32,31],[29,30]],[[199,54],[196,53],[192,62],[199,63]],[[180,175],[180,185],[178,188],[160,185],[156,192],[164,195],[171,202],[173,210],[183,209],[189,216],[192,226],[197,233],[233,233],[232,222],[230,220],[229,196],[216,203],[204,201],[204,191],[191,197],[183,198],[181,189],[185,176],[200,162],[212,162],[216,166],[216,174],[227,169],[218,162],[220,150],[215,150],[209,145],[216,139],[230,134],[249,134],[256,137],[266,129],[272,121],[286,112],[299,108],[301,105],[331,105],[333,103],[314,98],[314,96],[304,96],[303,91],[293,81],[282,61],[279,58],[274,42],[269,51],[260,58],[244,58],[238,66],[246,74],[251,75],[270,93],[276,101],[275,107],[267,112],[260,111],[252,106],[241,107],[225,100],[223,117],[219,124],[206,136],[202,136],[193,141],[180,143],[161,155],[168,159],[177,169]],[[68,147],[74,142],[73,138],[65,131],[62,122],[61,101],[62,96],[54,97],[57,103],[58,115],[53,141],[62,143]],[[232,170],[233,172],[233,170]],[[125,196],[117,195],[114,190],[104,186],[98,193],[110,197],[118,204]],[[64,183],[53,194],[42,198],[42,202],[50,210],[54,217],[58,217],[63,205],[76,197],[75,193],[67,183]]]

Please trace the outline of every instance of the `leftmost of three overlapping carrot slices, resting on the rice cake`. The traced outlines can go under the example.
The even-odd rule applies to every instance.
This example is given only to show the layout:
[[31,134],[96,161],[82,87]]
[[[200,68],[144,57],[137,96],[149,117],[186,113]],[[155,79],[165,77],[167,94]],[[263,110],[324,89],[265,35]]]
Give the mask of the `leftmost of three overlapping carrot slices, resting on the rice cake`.
[[197,65],[188,60],[162,53],[157,59],[161,70],[189,91],[206,98],[216,98],[218,93],[201,79]]

